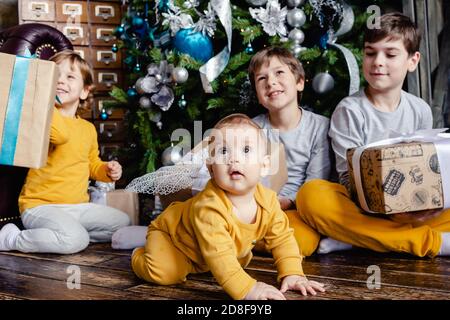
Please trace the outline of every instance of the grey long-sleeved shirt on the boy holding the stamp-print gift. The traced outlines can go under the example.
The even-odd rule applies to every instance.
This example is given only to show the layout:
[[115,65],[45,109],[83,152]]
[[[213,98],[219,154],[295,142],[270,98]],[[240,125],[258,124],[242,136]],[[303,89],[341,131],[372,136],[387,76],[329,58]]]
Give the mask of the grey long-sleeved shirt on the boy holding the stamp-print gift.
[[430,129],[433,117],[422,99],[402,90],[400,103],[393,112],[376,109],[364,89],[344,98],[331,116],[329,136],[336,156],[336,171],[341,184],[349,187],[347,149],[389,138],[395,131],[412,133]]

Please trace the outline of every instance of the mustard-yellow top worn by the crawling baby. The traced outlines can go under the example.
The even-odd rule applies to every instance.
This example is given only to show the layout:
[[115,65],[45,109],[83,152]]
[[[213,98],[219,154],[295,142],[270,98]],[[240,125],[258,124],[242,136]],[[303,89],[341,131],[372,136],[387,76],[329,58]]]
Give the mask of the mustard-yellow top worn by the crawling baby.
[[303,275],[297,243],[277,195],[258,184],[256,222],[241,222],[232,203],[212,180],[195,197],[169,206],[149,227],[167,232],[175,246],[201,271],[210,270],[233,299],[242,299],[256,283],[245,267],[257,240],[264,239],[272,251],[278,280]]

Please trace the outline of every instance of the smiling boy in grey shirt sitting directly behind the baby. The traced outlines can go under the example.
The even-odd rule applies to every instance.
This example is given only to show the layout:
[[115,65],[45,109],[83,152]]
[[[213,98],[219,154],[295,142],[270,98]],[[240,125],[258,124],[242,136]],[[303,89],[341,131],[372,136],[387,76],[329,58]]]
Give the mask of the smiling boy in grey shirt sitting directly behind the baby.
[[309,256],[316,250],[320,234],[300,219],[295,204],[298,206],[297,191],[305,181],[329,178],[329,120],[299,108],[305,73],[289,50],[269,47],[259,51],[248,72],[259,103],[268,110],[253,120],[263,129],[276,129],[267,131],[269,140],[279,139],[284,144],[288,181],[278,199],[302,255]]

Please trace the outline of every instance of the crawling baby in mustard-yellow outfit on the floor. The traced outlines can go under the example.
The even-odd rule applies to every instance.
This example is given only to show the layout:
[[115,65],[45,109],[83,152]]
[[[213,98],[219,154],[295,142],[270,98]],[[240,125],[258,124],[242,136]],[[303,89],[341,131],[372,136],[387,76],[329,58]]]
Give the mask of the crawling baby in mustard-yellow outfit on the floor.
[[[211,271],[233,299],[285,299],[283,292],[323,292],[303,274],[298,245],[275,192],[259,183],[269,170],[267,140],[244,114],[217,123],[207,160],[211,180],[185,202],[169,206],[148,228],[145,247],[132,254],[136,275],[170,285],[190,273]],[[281,289],[256,281],[243,269],[264,240],[272,252]]]

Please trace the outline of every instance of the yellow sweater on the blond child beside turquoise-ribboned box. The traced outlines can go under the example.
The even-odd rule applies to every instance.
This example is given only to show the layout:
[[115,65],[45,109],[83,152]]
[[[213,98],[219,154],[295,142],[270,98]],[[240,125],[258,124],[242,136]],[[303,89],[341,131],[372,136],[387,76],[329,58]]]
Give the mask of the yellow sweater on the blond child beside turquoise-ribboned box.
[[44,204],[89,201],[89,178],[110,182],[105,162],[99,158],[95,127],[81,118],[53,112],[47,165],[28,171],[19,197],[19,210]]

